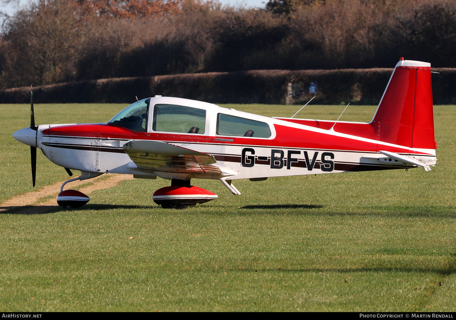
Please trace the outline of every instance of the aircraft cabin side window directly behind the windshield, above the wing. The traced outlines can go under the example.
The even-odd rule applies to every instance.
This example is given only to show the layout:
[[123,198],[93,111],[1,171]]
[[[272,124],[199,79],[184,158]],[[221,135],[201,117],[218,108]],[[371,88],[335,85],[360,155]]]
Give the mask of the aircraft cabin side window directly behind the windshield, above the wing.
[[154,106],[153,131],[203,134],[205,124],[206,110],[204,109],[173,104]]

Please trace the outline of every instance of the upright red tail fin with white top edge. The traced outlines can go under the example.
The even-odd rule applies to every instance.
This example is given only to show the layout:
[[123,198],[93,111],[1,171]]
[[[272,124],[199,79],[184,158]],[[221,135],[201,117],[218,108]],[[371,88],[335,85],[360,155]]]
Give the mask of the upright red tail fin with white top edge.
[[435,149],[430,63],[398,62],[371,124],[379,141]]

